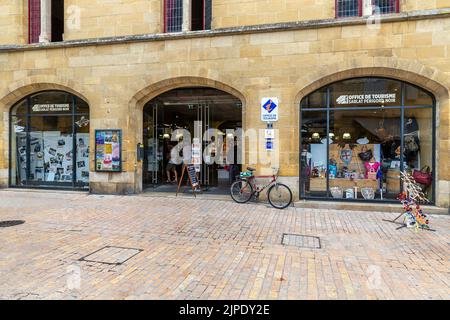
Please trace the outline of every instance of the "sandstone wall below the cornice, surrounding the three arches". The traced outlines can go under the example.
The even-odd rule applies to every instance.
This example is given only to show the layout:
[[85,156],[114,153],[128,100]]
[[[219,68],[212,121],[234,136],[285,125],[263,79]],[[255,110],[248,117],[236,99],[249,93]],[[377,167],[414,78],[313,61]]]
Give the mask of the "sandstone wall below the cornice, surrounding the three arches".
[[[65,88],[90,104],[95,129],[123,130],[121,174],[93,173],[93,192],[127,193],[142,188],[142,108],[176,87],[210,86],[239,97],[244,128],[264,128],[260,99],[280,99],[281,175],[298,176],[299,102],[332,81],[387,76],[431,91],[438,104],[438,203],[449,206],[450,17],[280,32],[183,36],[90,46],[42,46],[0,50],[0,184],[7,185],[8,111],[20,98]],[[261,142],[260,150],[263,150]],[[248,151],[248,150],[247,150]],[[246,156],[249,154],[247,152]],[[252,164],[252,163],[248,163]],[[270,168],[258,167],[264,173]],[[294,181],[294,180],[293,180]]]

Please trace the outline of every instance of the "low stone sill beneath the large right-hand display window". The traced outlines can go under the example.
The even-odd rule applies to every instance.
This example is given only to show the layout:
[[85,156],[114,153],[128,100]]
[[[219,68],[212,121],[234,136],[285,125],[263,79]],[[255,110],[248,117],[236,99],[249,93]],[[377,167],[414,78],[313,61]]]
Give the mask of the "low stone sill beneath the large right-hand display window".
[[[381,212],[401,212],[403,206],[396,203],[359,203],[359,202],[337,202],[322,200],[300,200],[294,202],[296,208],[310,209],[334,209],[348,211],[381,211]],[[436,206],[422,206],[428,214],[450,214],[449,208],[439,208]]]

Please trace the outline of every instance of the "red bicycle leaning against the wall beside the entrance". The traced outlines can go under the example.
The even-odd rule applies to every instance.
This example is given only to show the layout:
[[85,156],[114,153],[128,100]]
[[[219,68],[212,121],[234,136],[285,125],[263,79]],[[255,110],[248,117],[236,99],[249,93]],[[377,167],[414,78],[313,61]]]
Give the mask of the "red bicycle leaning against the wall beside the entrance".
[[[248,167],[248,171],[241,172],[237,176],[238,180],[233,182],[230,187],[231,198],[237,203],[246,203],[255,196],[256,199],[266,188],[267,199],[272,207],[276,209],[287,208],[292,203],[292,191],[289,187],[283,183],[279,183],[278,180],[278,168],[274,168],[274,173],[271,176],[255,176],[253,175],[256,169]],[[262,186],[256,185],[256,178],[271,178],[272,180]]]

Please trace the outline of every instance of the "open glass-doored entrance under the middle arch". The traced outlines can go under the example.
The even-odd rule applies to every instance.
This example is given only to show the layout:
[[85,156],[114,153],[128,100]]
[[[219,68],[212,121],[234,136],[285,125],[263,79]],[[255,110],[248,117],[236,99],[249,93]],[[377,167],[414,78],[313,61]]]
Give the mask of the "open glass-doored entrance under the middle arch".
[[[144,188],[175,192],[183,163],[171,161],[173,152],[183,157],[182,148],[178,148],[190,145],[197,137],[201,145],[202,161],[197,171],[202,190],[229,192],[241,170],[237,135],[242,128],[242,103],[238,98],[204,87],[170,90],[145,105],[143,128]],[[183,141],[187,136],[181,132],[187,133],[190,141]]]

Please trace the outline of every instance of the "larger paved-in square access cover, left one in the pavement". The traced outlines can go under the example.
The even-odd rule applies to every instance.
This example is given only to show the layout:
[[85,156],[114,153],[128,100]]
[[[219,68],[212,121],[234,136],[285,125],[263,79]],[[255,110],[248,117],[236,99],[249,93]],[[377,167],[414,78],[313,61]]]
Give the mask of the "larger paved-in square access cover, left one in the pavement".
[[121,265],[142,251],[144,250],[136,248],[106,246],[88,254],[87,256],[84,256],[79,261]]

